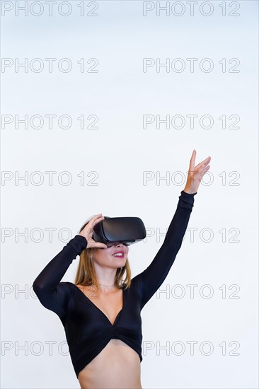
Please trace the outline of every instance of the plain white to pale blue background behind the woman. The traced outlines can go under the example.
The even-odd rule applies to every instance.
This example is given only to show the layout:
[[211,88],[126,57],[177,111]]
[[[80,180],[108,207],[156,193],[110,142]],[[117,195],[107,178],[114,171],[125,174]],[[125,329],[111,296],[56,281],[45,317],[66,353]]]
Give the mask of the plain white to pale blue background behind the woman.
[[[156,1],[149,2],[154,9],[146,16],[142,1],[97,1],[97,16],[87,15],[94,6],[88,1],[84,16],[79,1],[69,2],[68,16],[58,12],[60,1],[52,16],[45,1],[36,2],[40,16],[37,4],[25,16],[17,9],[24,1],[1,3],[1,388],[79,388],[70,356],[64,355],[62,323],[35,298],[33,280],[84,221],[100,212],[144,221],[148,237],[129,249],[132,277],[142,272],[161,247],[163,236],[156,231],[166,233],[193,149],[196,164],[212,157],[211,168],[160,288],[169,293],[158,291],[142,310],[142,387],[258,388],[258,2],[198,1],[192,16],[188,1],[168,2],[176,7],[168,16],[156,15]],[[209,9],[212,14],[205,16]],[[40,72],[14,66],[35,58],[44,64]],[[45,58],[57,59],[52,73]],[[72,64],[69,72],[57,67],[64,58]],[[81,73],[82,58],[88,67],[89,58],[98,59],[98,71]],[[170,64],[180,58],[185,70],[154,65],[144,72],[144,58],[168,58]],[[197,59],[193,72],[188,58]],[[205,58],[214,64],[210,72],[200,69]],[[238,72],[229,71],[234,58]],[[13,65],[3,66],[6,59]],[[3,115],[12,118],[9,124]],[[25,128],[15,115],[45,120],[40,129],[30,122]],[[57,115],[52,128],[45,115]],[[61,115],[71,117],[71,127],[59,126]],[[98,128],[81,129],[81,115],[87,125],[87,117],[96,115]],[[144,115],[182,115],[185,125],[159,129],[154,122],[144,129]],[[198,115],[194,128],[186,115]],[[202,115],[213,118],[212,128],[202,128]],[[237,129],[229,128],[231,115],[240,118]],[[55,172],[53,185],[47,171]],[[90,185],[93,171],[97,185]],[[70,185],[62,172],[68,172]],[[144,182],[144,172],[153,179]],[[26,175],[28,180],[18,179]],[[159,180],[166,175],[168,181]],[[55,228],[52,240],[47,228]],[[190,228],[197,228],[193,241]],[[74,281],[78,261],[63,281]],[[196,285],[194,298],[190,284]],[[175,285],[182,286],[183,298],[175,297]],[[205,285],[211,298],[205,298]],[[197,342],[193,355],[191,341]],[[166,342],[168,355],[165,349],[159,355]],[[179,345],[173,352],[174,342],[185,346],[182,355]],[[200,349],[202,342],[210,342],[210,355],[207,346]]]

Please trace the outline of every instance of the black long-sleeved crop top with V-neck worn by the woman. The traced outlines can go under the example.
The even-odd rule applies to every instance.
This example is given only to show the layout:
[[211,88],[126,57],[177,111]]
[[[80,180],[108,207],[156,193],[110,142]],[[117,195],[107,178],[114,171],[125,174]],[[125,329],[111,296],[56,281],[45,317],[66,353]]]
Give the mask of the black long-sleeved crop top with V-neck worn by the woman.
[[87,246],[84,236],[76,235],[40,272],[33,290],[45,308],[57,313],[64,326],[76,377],[110,342],[120,339],[132,347],[142,361],[141,310],[154,295],[173,265],[182,245],[196,193],[180,192],[178,206],[165,239],[154,260],[132,278],[129,289],[122,289],[123,307],[115,322],[71,282],[60,282],[71,262]]

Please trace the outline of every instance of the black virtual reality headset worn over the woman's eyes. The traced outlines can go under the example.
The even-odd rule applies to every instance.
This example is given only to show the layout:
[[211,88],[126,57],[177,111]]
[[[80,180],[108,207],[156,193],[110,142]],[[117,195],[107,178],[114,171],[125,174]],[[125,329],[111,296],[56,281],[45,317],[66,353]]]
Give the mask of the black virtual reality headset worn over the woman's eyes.
[[146,238],[146,228],[139,217],[109,217],[93,227],[93,240],[108,247],[115,243],[132,245]]

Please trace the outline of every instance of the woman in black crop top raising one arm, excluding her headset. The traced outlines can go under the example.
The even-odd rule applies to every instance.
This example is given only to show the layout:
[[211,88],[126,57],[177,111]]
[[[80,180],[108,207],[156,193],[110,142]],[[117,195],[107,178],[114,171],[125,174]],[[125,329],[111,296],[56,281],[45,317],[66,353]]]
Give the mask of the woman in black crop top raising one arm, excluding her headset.
[[[64,325],[81,388],[142,388],[140,313],[173,265],[194,196],[209,170],[210,157],[195,166],[195,156],[194,150],[188,180],[163,245],[142,273],[131,279],[127,245],[107,247],[93,240],[93,227],[104,219],[98,214],[82,226],[33,283],[42,305],[57,313]],[[60,282],[76,255],[80,255],[80,262],[75,284]]]

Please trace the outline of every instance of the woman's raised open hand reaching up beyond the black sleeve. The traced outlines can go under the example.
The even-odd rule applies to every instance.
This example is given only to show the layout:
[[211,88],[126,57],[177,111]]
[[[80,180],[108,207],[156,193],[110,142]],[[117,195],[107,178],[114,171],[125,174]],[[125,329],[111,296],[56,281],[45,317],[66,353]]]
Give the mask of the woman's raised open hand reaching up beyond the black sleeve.
[[198,163],[197,166],[195,166],[195,157],[196,157],[196,150],[193,150],[192,156],[190,158],[188,178],[187,178],[185,188],[183,190],[185,193],[190,193],[190,194],[196,193],[200,185],[200,182],[202,180],[202,176],[205,175],[205,173],[210,168],[210,166],[208,165],[209,161],[211,160],[210,156],[207,157],[204,161]]

